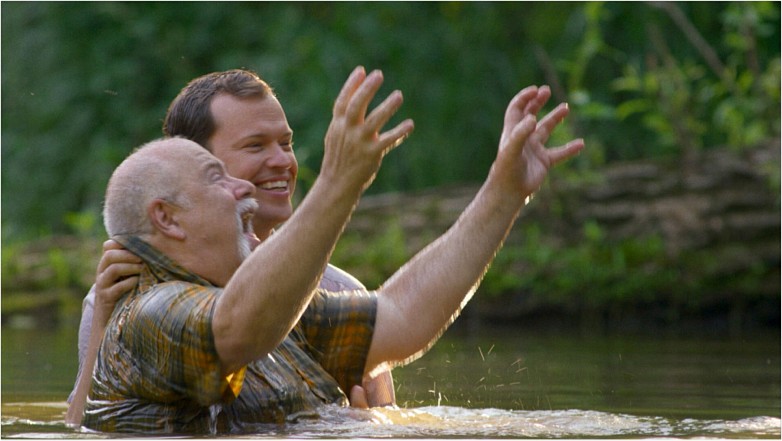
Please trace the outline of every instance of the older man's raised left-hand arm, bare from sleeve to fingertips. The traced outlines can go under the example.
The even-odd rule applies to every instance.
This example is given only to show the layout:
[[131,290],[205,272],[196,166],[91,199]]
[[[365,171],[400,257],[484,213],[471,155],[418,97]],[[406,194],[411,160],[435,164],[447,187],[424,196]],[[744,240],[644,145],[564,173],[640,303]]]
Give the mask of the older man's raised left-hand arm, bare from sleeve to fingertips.
[[402,104],[399,92],[366,114],[382,81],[379,72],[353,71],[334,104],[320,176],[285,226],[256,248],[217,301],[212,326],[224,373],[269,353],[292,329],[382,158],[412,131],[412,121],[406,120],[380,133]]

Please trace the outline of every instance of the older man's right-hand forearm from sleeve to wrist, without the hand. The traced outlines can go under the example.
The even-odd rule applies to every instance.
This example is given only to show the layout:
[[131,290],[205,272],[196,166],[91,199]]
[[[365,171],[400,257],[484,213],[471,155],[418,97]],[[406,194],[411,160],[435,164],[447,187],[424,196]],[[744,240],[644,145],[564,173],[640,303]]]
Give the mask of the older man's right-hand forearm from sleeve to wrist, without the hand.
[[380,288],[368,370],[428,348],[469,300],[523,206],[500,187],[490,176],[456,223]]

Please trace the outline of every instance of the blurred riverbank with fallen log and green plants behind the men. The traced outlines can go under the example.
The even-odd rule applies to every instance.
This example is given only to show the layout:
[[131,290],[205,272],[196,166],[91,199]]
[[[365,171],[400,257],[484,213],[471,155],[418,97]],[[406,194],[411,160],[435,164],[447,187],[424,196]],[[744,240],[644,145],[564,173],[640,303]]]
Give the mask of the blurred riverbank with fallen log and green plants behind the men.
[[[555,173],[460,321],[738,335],[780,326],[778,141],[695,161]],[[368,287],[442,234],[476,186],[365,196],[332,262]],[[4,241],[2,323],[78,318],[100,234]]]

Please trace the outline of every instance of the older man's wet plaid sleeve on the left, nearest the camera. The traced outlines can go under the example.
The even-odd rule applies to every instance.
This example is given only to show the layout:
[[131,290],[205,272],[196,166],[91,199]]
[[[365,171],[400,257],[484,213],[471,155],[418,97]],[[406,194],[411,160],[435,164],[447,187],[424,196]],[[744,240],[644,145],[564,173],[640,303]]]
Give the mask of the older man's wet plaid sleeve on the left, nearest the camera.
[[157,401],[182,398],[201,405],[238,395],[244,368],[228,378],[212,334],[214,305],[221,291],[182,282],[157,285],[136,303],[123,331],[141,371],[138,393]]

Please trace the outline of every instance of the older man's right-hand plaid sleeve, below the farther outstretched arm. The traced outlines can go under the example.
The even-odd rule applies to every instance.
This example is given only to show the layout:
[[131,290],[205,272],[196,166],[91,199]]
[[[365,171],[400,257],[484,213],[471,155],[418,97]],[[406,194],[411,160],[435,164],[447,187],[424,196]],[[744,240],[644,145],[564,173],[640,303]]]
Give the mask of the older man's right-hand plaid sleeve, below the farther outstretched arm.
[[374,292],[320,289],[301,318],[313,358],[348,393],[364,376],[376,315]]

